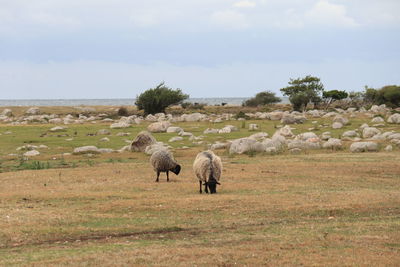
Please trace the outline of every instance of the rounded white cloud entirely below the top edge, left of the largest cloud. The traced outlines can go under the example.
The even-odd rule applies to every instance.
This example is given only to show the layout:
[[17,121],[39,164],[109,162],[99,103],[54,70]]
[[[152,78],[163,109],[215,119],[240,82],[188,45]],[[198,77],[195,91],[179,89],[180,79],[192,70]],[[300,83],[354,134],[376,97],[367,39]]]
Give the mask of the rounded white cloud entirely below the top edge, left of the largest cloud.
[[211,15],[211,20],[215,24],[228,29],[245,29],[250,25],[244,14],[235,10],[217,11]]

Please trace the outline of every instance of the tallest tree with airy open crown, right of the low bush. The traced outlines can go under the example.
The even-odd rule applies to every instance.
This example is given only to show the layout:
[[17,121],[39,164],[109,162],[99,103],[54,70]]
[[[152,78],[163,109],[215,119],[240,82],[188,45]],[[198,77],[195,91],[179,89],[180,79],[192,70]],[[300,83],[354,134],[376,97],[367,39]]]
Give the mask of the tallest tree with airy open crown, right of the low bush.
[[306,109],[311,102],[318,106],[321,102],[321,94],[324,91],[324,85],[320,78],[308,75],[304,78],[290,79],[288,87],[282,88],[281,92],[289,96],[289,101],[294,110],[300,111]]

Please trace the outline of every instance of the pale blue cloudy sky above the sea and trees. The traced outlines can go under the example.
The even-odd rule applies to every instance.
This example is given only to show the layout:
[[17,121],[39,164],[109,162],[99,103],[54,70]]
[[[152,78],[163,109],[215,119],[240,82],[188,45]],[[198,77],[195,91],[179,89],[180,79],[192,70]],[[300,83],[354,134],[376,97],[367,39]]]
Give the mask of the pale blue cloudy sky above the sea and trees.
[[0,0],[0,99],[400,84],[399,0]]

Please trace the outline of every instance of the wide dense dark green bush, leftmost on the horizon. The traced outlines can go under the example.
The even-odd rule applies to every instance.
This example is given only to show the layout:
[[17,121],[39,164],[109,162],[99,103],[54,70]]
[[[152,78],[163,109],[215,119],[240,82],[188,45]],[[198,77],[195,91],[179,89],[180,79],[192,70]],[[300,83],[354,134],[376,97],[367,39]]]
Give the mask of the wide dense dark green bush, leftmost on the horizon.
[[182,93],[181,89],[171,89],[162,82],[155,88],[148,89],[136,97],[135,104],[145,114],[165,112],[170,105],[180,104],[189,95]]

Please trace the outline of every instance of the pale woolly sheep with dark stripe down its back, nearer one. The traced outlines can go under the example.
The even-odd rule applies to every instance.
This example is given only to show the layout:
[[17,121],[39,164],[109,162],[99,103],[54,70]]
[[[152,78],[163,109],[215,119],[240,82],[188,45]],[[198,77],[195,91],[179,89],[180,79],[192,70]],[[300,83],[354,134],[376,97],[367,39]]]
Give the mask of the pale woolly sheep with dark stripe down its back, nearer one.
[[193,170],[199,179],[200,184],[200,194],[203,193],[202,183],[204,184],[204,190],[208,194],[208,189],[210,193],[217,193],[217,185],[221,173],[222,173],[222,162],[221,158],[216,156],[212,151],[203,151],[197,154],[196,159],[193,163]]

